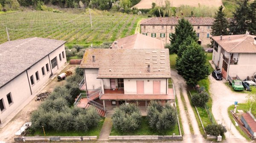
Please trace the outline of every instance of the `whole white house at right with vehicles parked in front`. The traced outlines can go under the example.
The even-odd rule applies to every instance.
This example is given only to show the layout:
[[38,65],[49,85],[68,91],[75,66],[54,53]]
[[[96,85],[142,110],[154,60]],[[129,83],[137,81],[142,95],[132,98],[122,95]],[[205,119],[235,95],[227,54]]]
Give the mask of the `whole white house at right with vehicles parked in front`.
[[221,69],[224,79],[227,76],[240,79],[250,78],[256,72],[256,36],[227,35],[212,36],[214,50],[212,62]]

